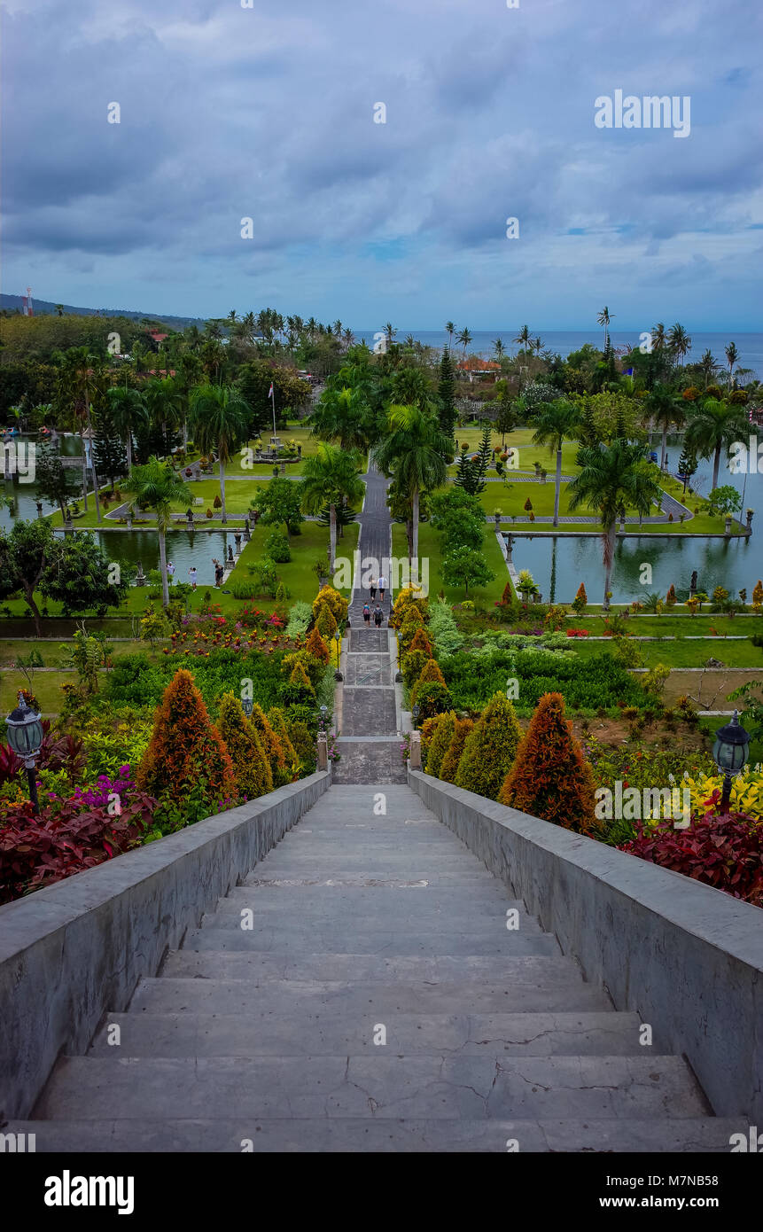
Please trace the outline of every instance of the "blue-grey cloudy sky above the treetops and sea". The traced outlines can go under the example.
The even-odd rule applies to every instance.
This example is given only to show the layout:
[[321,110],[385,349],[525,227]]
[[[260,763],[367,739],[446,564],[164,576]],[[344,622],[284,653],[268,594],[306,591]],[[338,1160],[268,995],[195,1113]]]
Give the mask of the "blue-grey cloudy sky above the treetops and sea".
[[[9,293],[761,329],[761,0],[7,0],[2,26]],[[598,128],[618,89],[689,96],[690,134]]]

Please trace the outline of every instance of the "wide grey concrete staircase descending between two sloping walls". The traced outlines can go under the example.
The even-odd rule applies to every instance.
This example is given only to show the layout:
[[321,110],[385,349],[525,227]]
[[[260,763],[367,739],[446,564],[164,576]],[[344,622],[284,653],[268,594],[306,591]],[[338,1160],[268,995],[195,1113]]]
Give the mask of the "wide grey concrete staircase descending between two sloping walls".
[[418,796],[372,784],[332,786],[15,1129],[38,1151],[621,1152],[727,1151],[735,1127]]

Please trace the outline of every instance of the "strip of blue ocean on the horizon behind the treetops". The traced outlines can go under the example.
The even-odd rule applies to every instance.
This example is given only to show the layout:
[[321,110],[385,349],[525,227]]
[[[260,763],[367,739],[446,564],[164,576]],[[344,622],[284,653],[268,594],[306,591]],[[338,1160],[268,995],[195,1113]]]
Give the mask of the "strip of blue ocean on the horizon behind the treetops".
[[[457,324],[457,323],[456,323]],[[584,342],[592,342],[594,346],[602,346],[604,342],[604,330],[600,328],[593,329],[578,329],[578,330],[545,330],[536,329],[530,322],[528,322],[530,333],[532,338],[541,338],[544,342],[544,349],[555,351],[561,356],[569,355],[571,351],[579,350]],[[457,325],[462,329],[462,325]],[[516,354],[516,345],[513,339],[519,333],[521,326],[515,329],[478,329],[472,331],[472,341],[468,346],[468,352],[472,355],[481,355],[483,359],[491,359],[493,355],[493,341],[499,338],[507,349],[507,355]],[[666,328],[669,324],[666,322]],[[396,341],[401,341],[407,338],[408,334],[424,342],[426,346],[443,347],[447,342],[447,334],[444,329],[439,330],[422,330],[422,329],[403,329],[397,330]],[[726,356],[724,354],[725,347],[728,342],[736,342],[737,351],[740,352],[740,359],[735,366],[735,372],[737,368],[751,368],[749,376],[742,377],[742,379],[752,379],[757,377],[759,381],[763,379],[763,334],[741,334],[728,330],[726,333],[692,333],[692,350],[687,355],[687,362],[696,362],[704,351],[710,349],[714,359],[717,363],[726,367]],[[355,338],[360,341],[361,339],[373,346],[373,330],[355,330]],[[609,334],[611,344],[614,347],[618,346],[639,346],[640,333],[639,330],[610,330]],[[454,351],[459,354],[461,347],[456,344],[454,339]]]

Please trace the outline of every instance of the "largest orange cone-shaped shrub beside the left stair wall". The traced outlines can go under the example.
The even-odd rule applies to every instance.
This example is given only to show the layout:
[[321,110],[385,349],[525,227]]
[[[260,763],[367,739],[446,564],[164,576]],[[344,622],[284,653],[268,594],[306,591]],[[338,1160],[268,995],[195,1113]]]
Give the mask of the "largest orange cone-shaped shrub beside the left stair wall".
[[201,796],[211,812],[237,793],[231,755],[194,676],[184,668],[164,690],[136,782],[152,796],[175,803]]

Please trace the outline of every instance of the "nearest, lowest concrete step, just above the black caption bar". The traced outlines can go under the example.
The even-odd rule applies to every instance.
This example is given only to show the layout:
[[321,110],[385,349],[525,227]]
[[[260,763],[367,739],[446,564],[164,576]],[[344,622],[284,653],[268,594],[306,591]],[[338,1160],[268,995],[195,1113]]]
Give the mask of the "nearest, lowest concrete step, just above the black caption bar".
[[[357,1116],[242,1117],[232,1120],[11,1121],[10,1133],[35,1133],[37,1153],[267,1153],[484,1154],[526,1152],[727,1153],[740,1117],[680,1120],[622,1116],[616,1120],[369,1120]],[[627,1190],[630,1194],[631,1190]]]

